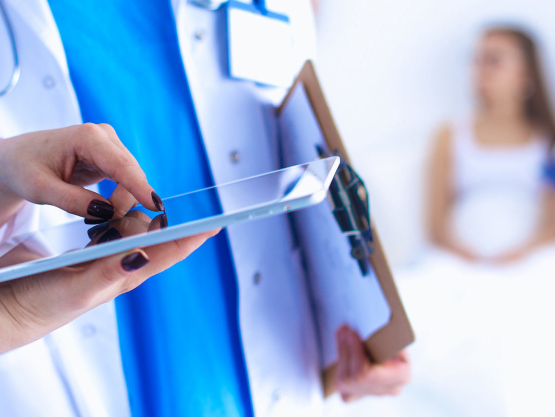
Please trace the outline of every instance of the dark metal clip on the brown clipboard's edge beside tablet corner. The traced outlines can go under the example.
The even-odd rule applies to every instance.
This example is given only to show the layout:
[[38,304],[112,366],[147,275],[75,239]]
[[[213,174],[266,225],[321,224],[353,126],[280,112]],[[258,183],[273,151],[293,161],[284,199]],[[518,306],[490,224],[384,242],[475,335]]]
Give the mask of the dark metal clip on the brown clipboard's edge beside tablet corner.
[[[331,156],[320,146],[317,150],[320,157]],[[341,156],[337,151],[333,155]],[[374,252],[368,192],[360,176],[343,158],[330,185],[329,201],[337,224],[349,239],[351,256],[359,263],[362,275],[367,276]]]

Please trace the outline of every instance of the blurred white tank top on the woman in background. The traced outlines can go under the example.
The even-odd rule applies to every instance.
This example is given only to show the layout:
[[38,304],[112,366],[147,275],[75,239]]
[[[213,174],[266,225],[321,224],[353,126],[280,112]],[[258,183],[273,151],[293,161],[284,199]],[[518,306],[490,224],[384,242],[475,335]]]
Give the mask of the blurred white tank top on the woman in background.
[[480,145],[471,123],[453,133],[455,235],[483,256],[522,245],[537,225],[547,140],[535,137],[524,145]]

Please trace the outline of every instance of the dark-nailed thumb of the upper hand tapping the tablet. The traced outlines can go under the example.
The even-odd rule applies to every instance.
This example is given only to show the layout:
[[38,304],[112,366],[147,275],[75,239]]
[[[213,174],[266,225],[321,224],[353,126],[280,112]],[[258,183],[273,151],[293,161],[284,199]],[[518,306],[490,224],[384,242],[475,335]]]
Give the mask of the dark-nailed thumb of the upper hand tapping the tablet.
[[48,187],[38,190],[33,202],[56,206],[85,218],[110,220],[114,216],[114,206],[94,191],[69,184],[55,175],[45,182]]

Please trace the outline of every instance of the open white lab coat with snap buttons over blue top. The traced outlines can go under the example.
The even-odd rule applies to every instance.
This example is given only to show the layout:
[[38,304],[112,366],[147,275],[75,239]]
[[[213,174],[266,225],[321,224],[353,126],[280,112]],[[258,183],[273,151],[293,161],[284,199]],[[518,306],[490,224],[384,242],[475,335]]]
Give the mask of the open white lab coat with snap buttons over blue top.
[[[4,1],[17,36],[22,76],[9,95],[0,97],[0,137],[80,123],[63,46],[47,1]],[[309,0],[266,3],[270,9],[289,14],[295,66],[300,69],[315,50]],[[185,0],[171,4],[215,181],[278,168],[275,134],[267,121],[271,106],[285,91],[229,80],[218,62],[223,51],[223,14]],[[200,32],[202,36],[194,36]],[[6,56],[6,49],[0,49],[2,53]],[[232,161],[236,158],[230,158],[231,152],[239,153],[239,162]],[[9,227],[0,230],[0,239],[7,233],[60,221],[67,221],[67,216],[29,204]],[[255,414],[321,414],[315,326],[289,220],[280,216],[231,227],[228,232],[239,280],[241,335]],[[129,415],[113,303],[0,355],[0,415]]]

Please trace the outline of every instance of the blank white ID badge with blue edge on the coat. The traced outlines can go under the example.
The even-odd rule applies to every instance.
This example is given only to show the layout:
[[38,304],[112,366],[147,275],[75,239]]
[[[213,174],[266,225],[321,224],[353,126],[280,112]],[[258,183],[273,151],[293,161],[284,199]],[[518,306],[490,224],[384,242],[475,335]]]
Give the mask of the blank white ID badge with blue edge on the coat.
[[294,78],[289,18],[255,3],[259,6],[235,0],[226,4],[229,76],[289,87]]

